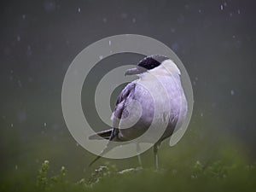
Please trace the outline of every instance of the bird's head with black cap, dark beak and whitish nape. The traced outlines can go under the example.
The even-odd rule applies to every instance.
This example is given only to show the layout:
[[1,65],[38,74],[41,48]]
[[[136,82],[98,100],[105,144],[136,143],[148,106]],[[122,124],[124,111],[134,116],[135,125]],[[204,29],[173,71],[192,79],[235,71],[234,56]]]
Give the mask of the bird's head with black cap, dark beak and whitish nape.
[[180,74],[176,64],[168,57],[163,55],[149,55],[143,58],[142,61],[137,63],[137,67],[128,69],[125,75],[138,75],[141,76],[144,73],[155,73],[158,75],[164,74]]

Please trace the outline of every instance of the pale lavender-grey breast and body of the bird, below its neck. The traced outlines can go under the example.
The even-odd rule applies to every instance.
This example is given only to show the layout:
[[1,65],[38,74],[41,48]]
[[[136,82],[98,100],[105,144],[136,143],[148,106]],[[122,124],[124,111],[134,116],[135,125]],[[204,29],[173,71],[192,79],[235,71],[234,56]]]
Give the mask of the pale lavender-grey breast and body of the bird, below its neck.
[[[128,96],[126,95],[125,101],[117,105],[113,112],[120,113],[121,110],[118,125],[119,140],[127,141],[141,136],[148,130],[154,118],[158,119],[154,125],[156,131],[158,127],[167,125],[166,131],[160,138],[164,140],[172,135],[174,129],[178,129],[177,121],[183,122],[186,117],[187,101],[178,75],[160,76],[157,77],[157,81],[154,78],[138,79],[128,84],[120,96],[124,95],[124,92],[126,94],[129,92]],[[161,110],[155,113],[156,108]],[[114,121],[113,119],[113,124]],[[144,142],[151,143],[151,139],[148,137]]]

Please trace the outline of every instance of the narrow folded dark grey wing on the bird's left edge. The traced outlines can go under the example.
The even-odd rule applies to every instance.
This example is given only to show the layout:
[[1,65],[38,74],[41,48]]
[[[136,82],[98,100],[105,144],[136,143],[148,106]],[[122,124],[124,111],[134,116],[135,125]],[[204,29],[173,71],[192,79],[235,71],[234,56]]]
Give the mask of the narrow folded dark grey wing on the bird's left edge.
[[119,133],[119,121],[122,118],[122,114],[124,112],[124,108],[125,108],[125,102],[127,101],[127,99],[132,96],[135,90],[135,86],[136,84],[134,82],[131,82],[130,84],[127,84],[125,86],[125,89],[121,91],[115,108],[113,110],[112,113],[112,121],[113,121],[113,132],[112,135],[110,137],[110,140],[113,140],[114,137],[116,137],[116,139],[118,140],[117,136]]

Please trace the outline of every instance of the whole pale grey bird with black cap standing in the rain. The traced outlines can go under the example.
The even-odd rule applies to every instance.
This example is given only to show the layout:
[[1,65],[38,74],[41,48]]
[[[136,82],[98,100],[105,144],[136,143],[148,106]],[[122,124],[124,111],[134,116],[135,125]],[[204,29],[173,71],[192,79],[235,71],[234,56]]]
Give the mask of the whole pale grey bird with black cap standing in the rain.
[[[180,79],[181,72],[174,61],[167,56],[148,55],[137,63],[137,67],[128,69],[125,75],[137,75],[138,79],[127,84],[120,92],[111,116],[113,128],[96,132],[96,134],[89,137],[90,140],[107,139],[114,141],[116,144],[109,142],[102,150],[102,153],[95,160],[92,160],[89,166],[100,159],[103,154],[107,154],[111,149],[117,147],[118,142],[131,141],[143,135],[153,121],[155,105],[165,106],[168,104],[166,105],[168,108],[164,108],[163,113],[156,114],[159,118],[156,127],[166,125],[166,130],[153,145],[154,166],[158,169],[157,152],[160,144],[181,127],[188,112],[188,102]],[[150,91],[143,84],[147,84],[149,90],[157,95],[156,98],[152,97]],[[160,85],[164,86],[165,93],[163,89],[160,89]],[[163,96],[164,94],[167,97]],[[134,116],[137,116],[137,103],[141,106],[142,112],[137,122],[132,122],[134,121]],[[128,121],[124,120],[125,118]],[[125,124],[127,122],[132,123],[131,127],[126,127],[127,125]],[[145,142],[151,143],[153,137],[147,138]],[[142,166],[139,143],[136,144],[138,162]]]

